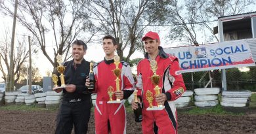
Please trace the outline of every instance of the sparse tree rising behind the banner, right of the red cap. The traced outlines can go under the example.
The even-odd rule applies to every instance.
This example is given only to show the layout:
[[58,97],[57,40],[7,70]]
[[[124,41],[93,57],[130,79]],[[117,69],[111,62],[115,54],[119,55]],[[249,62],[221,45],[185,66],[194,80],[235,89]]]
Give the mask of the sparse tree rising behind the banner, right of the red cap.
[[248,7],[255,5],[253,0],[186,0],[184,3],[173,1],[169,7],[169,38],[184,44],[198,44],[219,41],[213,33],[213,25],[217,25],[217,18],[250,12]]

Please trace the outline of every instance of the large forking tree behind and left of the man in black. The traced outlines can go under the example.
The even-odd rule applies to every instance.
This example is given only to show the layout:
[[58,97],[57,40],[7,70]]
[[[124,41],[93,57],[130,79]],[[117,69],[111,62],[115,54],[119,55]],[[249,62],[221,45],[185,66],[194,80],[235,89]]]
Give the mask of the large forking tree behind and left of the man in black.
[[[0,8],[5,14],[13,16],[12,10],[2,1]],[[13,1],[11,1],[13,3]],[[82,3],[82,4],[81,4]],[[96,33],[93,23],[88,20],[89,12],[82,5],[87,5],[87,1],[64,1],[64,0],[24,0],[18,3],[17,19],[20,24],[24,25],[35,37],[41,51],[45,57],[56,67],[56,56],[64,56],[64,61],[70,58],[68,54],[70,44],[82,32],[89,32],[87,41]],[[51,58],[51,51],[47,50],[47,33],[53,32],[53,50],[54,59]],[[92,33],[92,34],[91,34]],[[81,36],[80,36],[81,37]]]

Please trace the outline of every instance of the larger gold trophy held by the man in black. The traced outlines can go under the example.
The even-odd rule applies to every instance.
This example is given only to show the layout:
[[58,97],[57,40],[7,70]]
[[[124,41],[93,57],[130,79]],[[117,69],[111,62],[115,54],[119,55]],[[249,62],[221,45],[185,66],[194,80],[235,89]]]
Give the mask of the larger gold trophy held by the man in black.
[[64,75],[63,75],[66,67],[64,67],[62,65],[62,56],[61,55],[56,56],[56,59],[57,59],[57,62],[58,62],[57,71],[58,71],[58,73],[60,73],[60,83],[61,83],[61,86],[54,87],[53,90],[66,87],[65,80],[64,80]]

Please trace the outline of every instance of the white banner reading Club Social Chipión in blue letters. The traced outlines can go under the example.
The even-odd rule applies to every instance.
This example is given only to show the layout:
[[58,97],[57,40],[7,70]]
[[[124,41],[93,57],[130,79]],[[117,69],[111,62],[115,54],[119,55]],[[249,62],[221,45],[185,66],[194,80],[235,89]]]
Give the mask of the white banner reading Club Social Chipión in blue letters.
[[245,40],[164,48],[164,51],[179,58],[181,73],[255,65],[249,44]]

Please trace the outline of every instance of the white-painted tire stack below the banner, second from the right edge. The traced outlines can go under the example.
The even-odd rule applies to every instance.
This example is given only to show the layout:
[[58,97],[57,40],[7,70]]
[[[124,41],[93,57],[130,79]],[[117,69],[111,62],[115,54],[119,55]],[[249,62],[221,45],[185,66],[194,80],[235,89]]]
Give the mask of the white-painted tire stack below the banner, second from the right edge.
[[194,104],[197,107],[214,107],[219,104],[219,88],[196,88]]

